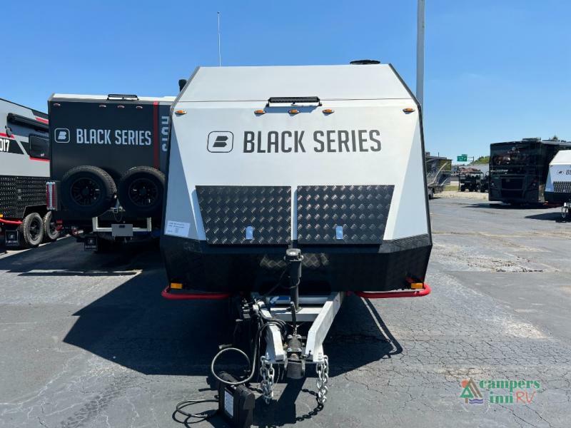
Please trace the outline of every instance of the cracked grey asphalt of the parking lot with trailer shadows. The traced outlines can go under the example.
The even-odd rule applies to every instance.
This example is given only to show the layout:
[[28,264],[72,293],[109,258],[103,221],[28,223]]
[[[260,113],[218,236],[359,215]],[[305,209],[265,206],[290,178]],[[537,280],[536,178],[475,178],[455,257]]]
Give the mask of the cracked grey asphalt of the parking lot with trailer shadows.
[[[268,407],[257,399],[256,426],[571,426],[571,223],[557,208],[460,198],[430,211],[433,292],[348,297],[325,343],[325,407],[312,373],[278,384]],[[0,255],[0,272],[0,428],[183,427],[176,403],[214,396],[224,303],[162,300],[156,248],[97,255],[66,238]],[[526,404],[491,403],[485,388],[466,404],[470,378],[540,388]]]

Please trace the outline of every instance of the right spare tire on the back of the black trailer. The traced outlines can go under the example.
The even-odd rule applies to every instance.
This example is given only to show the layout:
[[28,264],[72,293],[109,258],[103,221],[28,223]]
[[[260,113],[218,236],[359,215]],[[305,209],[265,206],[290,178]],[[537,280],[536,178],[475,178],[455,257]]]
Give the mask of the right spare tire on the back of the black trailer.
[[165,175],[150,166],[136,166],[119,180],[119,203],[127,214],[156,217],[163,209]]

